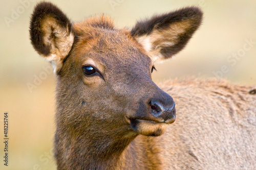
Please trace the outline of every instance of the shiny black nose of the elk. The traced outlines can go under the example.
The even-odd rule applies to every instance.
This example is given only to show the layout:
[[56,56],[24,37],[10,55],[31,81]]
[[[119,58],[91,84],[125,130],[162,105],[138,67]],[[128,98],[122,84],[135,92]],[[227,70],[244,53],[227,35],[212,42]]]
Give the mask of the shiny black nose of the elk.
[[159,122],[165,122],[172,124],[176,118],[175,102],[173,98],[161,101],[157,99],[151,100],[149,103],[152,115],[159,120]]

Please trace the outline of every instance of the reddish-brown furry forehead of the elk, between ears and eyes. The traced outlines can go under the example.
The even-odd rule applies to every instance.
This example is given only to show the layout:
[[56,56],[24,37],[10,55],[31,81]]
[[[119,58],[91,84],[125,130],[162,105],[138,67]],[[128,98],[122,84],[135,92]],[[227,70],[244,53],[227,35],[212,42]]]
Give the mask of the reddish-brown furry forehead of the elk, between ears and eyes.
[[[97,17],[95,19],[97,21]],[[101,20],[93,25],[88,25],[88,21],[76,23],[73,30],[77,38],[72,52],[75,59],[82,60],[83,64],[90,61],[95,66],[100,65],[99,69],[123,72],[139,68],[140,72],[149,73],[152,61],[129,31],[114,29],[109,25],[109,20]]]

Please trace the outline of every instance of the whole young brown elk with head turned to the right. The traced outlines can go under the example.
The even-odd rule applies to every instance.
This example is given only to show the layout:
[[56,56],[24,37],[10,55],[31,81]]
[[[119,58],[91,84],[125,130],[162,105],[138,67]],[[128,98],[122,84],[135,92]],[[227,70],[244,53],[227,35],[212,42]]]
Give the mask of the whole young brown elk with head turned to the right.
[[105,15],[72,23],[55,5],[36,5],[30,39],[57,77],[58,169],[256,169],[253,87],[152,81],[154,63],[180,52],[202,15],[186,7],[128,30]]

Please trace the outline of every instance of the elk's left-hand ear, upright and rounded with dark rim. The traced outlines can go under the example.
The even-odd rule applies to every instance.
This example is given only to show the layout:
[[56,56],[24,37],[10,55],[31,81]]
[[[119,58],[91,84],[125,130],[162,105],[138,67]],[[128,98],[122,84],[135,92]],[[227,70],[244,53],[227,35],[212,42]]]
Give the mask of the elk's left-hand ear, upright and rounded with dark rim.
[[35,50],[53,65],[57,74],[74,42],[71,22],[55,5],[36,5],[30,21],[30,40]]

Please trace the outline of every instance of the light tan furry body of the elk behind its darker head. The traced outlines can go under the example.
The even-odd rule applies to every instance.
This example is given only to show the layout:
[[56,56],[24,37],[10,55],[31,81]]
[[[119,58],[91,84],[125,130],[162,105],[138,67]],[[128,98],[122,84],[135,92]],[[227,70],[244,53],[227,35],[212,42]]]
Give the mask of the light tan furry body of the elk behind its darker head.
[[176,99],[177,120],[159,137],[138,136],[132,142],[127,150],[137,154],[126,159],[130,169],[141,168],[148,157],[161,160],[159,169],[255,169],[256,95],[249,93],[251,87],[193,78],[159,86]]

